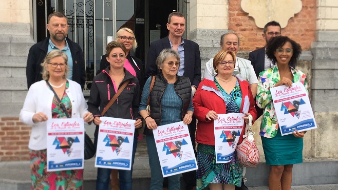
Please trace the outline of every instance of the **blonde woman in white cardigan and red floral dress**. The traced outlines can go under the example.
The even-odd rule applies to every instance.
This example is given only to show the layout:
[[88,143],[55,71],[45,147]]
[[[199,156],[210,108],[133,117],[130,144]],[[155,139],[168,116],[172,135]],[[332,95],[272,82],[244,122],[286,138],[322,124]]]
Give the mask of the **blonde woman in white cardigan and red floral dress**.
[[[47,172],[47,126],[50,118],[83,118],[90,122],[93,115],[88,112],[81,86],[67,79],[68,57],[60,50],[47,54],[41,64],[43,80],[35,82],[28,90],[21,120],[32,125],[29,139],[29,154],[32,189],[83,189],[83,170]],[[49,87],[49,85],[50,87]],[[59,96],[55,97],[54,90]],[[64,107],[67,113],[64,112]]]

